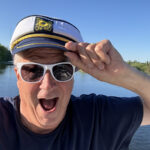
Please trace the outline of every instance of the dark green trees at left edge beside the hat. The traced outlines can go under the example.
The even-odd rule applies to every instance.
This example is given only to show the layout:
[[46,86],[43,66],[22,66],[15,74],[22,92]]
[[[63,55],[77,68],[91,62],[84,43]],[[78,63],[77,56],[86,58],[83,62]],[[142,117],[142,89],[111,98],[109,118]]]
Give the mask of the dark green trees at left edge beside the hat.
[[7,47],[0,44],[0,62],[11,61],[12,56]]

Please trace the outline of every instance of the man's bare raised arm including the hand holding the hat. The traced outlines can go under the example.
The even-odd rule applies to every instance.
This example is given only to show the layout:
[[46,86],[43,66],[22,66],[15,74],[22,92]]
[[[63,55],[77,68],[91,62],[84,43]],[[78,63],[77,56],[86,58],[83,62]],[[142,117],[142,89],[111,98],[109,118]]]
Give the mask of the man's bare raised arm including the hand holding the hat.
[[70,61],[97,78],[137,93],[143,100],[144,116],[141,125],[150,125],[150,77],[125,63],[110,41],[96,44],[66,43],[73,52],[65,52]]

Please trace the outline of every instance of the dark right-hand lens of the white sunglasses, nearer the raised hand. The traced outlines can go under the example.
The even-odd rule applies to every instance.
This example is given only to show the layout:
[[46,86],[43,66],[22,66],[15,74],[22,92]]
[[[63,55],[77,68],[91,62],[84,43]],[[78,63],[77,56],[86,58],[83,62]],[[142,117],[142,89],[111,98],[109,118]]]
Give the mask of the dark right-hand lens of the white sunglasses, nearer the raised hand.
[[53,74],[59,81],[67,81],[73,75],[73,67],[70,64],[60,64],[53,67]]

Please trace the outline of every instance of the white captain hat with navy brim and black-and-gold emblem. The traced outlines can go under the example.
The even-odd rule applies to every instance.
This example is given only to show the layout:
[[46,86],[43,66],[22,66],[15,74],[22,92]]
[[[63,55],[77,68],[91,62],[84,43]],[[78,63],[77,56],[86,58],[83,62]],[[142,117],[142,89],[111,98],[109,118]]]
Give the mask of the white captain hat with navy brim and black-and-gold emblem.
[[73,24],[61,19],[32,15],[17,24],[10,51],[14,55],[36,47],[66,50],[64,45],[68,41],[83,42],[80,31]]

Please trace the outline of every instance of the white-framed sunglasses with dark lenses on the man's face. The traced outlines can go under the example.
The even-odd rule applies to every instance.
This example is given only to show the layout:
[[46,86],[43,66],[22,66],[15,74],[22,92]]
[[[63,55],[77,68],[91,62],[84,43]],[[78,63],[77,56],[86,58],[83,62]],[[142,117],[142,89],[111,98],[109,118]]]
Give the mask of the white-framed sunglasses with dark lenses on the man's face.
[[67,82],[73,78],[75,66],[70,62],[60,62],[51,65],[39,64],[34,62],[17,63],[19,74],[25,82],[40,82],[47,70],[52,77],[58,82]]

